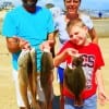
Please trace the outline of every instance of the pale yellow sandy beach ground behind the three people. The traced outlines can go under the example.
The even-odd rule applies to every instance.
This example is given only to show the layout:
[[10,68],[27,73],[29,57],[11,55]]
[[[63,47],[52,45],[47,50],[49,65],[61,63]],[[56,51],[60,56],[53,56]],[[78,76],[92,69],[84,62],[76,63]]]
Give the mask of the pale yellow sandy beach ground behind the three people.
[[[4,14],[0,12],[0,19],[2,19],[1,15]],[[106,65],[102,68],[102,76],[106,93],[109,95],[109,19],[94,20],[94,26],[99,36],[99,46],[105,58]],[[55,72],[53,90],[55,95],[59,96],[59,84],[57,83],[56,74]],[[11,55],[7,49],[5,39],[2,36],[0,36],[0,109],[19,109],[12,77]],[[98,104],[98,109],[109,109],[109,102],[106,102],[105,106]]]

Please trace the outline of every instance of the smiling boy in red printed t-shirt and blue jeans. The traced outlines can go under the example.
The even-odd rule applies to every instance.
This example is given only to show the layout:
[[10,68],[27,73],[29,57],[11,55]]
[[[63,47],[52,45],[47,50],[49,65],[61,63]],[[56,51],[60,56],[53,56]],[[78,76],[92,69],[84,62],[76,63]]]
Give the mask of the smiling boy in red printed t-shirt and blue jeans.
[[66,31],[70,40],[64,44],[56,56],[55,65],[58,66],[61,62],[71,65],[72,57],[81,55],[84,59],[82,66],[86,77],[86,86],[81,95],[84,99],[82,107],[74,106],[73,94],[64,86],[64,109],[97,109],[97,85],[101,104],[107,99],[102,76],[99,72],[100,68],[105,65],[100,49],[98,45],[87,40],[88,28],[80,19],[71,20],[66,25]]

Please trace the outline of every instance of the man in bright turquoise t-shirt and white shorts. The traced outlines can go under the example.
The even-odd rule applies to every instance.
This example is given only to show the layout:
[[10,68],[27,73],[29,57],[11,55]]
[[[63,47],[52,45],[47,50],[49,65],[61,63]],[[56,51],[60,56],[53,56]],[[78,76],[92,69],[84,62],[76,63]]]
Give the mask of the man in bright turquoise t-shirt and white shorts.
[[5,36],[7,46],[12,53],[13,76],[16,87],[16,98],[20,109],[26,109],[22,100],[17,83],[17,59],[22,49],[35,48],[37,51],[37,72],[40,71],[41,51],[39,45],[44,40],[52,40],[53,20],[51,13],[36,5],[37,0],[22,0],[23,4],[11,10],[4,19],[2,34]]

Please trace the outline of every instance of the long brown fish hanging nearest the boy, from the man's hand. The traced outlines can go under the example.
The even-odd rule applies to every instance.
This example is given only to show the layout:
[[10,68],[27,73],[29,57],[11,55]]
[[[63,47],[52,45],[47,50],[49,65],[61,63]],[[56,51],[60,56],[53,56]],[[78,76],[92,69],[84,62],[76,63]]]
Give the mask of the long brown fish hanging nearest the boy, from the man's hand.
[[40,61],[40,85],[45,95],[45,109],[51,109],[52,80],[53,80],[53,59],[51,52],[44,51]]

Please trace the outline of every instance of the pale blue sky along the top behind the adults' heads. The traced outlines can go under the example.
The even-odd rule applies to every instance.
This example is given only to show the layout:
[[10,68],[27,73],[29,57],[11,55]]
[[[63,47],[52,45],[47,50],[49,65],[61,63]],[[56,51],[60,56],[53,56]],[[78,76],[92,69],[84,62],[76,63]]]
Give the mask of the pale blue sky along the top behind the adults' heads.
[[[0,0],[12,1],[15,5],[21,3],[21,0]],[[38,4],[45,5],[46,3],[55,3],[57,7],[64,8],[63,0],[38,0]],[[109,10],[109,0],[82,0],[81,9],[90,10]]]

